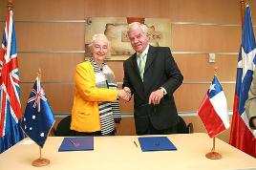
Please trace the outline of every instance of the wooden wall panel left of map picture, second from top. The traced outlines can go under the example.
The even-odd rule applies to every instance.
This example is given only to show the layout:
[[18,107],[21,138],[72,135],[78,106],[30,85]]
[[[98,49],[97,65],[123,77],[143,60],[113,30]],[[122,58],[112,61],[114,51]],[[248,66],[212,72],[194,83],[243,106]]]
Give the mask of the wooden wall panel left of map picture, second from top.
[[84,23],[16,23],[19,51],[84,50]]

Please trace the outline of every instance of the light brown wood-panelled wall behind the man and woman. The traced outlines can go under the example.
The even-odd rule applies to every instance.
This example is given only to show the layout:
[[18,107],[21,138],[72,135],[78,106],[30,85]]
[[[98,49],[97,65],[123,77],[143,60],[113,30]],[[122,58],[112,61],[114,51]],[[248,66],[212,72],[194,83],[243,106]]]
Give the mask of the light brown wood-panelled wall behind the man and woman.
[[[172,22],[172,51],[184,75],[175,93],[178,110],[196,132],[204,132],[197,109],[218,67],[228,107],[232,110],[237,54],[241,42],[239,0],[13,0],[24,110],[38,68],[46,95],[57,116],[70,114],[74,97],[75,65],[84,59],[86,17],[163,17]],[[256,3],[249,1],[256,22]],[[0,0],[0,20],[6,1]],[[63,22],[61,22],[61,20]],[[190,24],[188,24],[190,23]],[[212,25],[206,25],[211,23]],[[3,32],[3,22],[0,25]],[[68,53],[63,53],[63,52]],[[184,52],[184,53],[181,53]],[[208,62],[207,53],[216,53]],[[122,61],[108,61],[122,81]],[[133,103],[121,102],[124,117],[120,135],[135,134]],[[220,136],[228,140],[229,132]]]

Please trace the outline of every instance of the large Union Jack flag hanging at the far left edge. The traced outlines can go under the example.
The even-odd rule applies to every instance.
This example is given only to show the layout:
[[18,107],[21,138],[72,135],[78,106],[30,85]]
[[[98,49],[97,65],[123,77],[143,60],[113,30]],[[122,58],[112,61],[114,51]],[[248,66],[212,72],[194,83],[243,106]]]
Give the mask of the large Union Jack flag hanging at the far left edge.
[[0,53],[0,153],[24,138],[15,30],[9,11]]

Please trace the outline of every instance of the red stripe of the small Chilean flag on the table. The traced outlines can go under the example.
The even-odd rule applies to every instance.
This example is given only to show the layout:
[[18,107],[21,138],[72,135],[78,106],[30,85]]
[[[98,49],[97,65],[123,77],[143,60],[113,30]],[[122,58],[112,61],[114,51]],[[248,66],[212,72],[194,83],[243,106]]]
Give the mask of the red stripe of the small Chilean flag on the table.
[[215,137],[225,130],[224,123],[215,112],[207,94],[204,96],[201,107],[199,108],[199,117],[202,119],[210,138]]

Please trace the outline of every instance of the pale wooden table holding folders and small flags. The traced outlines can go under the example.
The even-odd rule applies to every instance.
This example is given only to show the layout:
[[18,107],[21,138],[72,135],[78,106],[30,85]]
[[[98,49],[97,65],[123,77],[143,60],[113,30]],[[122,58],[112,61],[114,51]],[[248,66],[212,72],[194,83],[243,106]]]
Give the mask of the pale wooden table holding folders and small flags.
[[63,138],[49,137],[42,149],[43,158],[51,163],[33,167],[39,147],[22,140],[0,155],[0,170],[218,170],[256,169],[256,159],[216,138],[216,151],[223,159],[206,159],[212,148],[212,138],[206,134],[167,136],[178,151],[141,152],[137,136],[96,137],[94,151],[58,152]]

